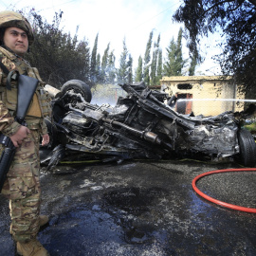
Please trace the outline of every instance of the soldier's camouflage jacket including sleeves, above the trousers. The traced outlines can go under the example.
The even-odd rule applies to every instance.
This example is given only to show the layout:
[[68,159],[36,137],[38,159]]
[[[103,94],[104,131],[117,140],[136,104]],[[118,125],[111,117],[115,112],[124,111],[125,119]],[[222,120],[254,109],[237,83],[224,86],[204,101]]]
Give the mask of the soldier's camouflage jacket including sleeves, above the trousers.
[[[7,49],[0,46],[0,61],[10,70],[17,70],[20,74],[39,80],[36,93],[27,111],[27,127],[40,130],[42,135],[47,133],[44,118],[50,116],[50,104],[44,89],[45,82],[39,76],[38,70],[31,67],[24,59],[18,58]],[[14,135],[20,124],[14,120],[17,105],[17,82],[11,82],[11,90],[6,88],[7,74],[0,69],[0,132],[10,137]],[[33,111],[36,109],[36,111]]]

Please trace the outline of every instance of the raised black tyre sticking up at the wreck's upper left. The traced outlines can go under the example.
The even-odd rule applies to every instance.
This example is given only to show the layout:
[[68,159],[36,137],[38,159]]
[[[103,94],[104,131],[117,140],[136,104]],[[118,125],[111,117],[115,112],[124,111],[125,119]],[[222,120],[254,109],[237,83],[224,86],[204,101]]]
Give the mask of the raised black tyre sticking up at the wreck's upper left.
[[80,93],[82,98],[90,102],[92,100],[92,92],[90,87],[81,80],[70,80],[65,82],[64,85],[61,87],[61,91],[66,93],[67,91],[74,90],[75,93]]

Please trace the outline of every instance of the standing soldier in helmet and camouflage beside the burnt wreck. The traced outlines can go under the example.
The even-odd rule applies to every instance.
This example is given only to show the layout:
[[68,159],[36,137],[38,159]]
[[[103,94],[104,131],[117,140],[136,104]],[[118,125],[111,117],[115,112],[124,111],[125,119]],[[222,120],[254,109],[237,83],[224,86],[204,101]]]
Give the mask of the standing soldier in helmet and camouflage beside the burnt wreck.
[[[38,70],[24,59],[33,40],[32,28],[23,15],[7,10],[0,12],[0,62],[9,71],[16,70],[39,81],[27,111],[27,127],[20,125],[15,121],[17,81],[11,81],[11,87],[7,88],[8,74],[0,65],[0,132],[10,137],[16,147],[2,193],[9,198],[9,231],[18,254],[43,256],[48,255],[46,248],[36,239],[40,226],[48,222],[47,216],[39,215],[39,143],[40,136],[42,145],[49,142],[44,117],[50,115],[50,107]],[[0,144],[0,154],[3,147]]]

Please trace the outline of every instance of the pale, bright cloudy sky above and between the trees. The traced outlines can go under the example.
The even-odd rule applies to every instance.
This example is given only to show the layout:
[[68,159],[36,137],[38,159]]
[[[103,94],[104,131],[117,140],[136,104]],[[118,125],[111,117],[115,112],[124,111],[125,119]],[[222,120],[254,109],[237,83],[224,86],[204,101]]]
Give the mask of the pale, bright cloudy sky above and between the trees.
[[[153,30],[153,42],[160,34],[160,47],[163,51],[163,62],[166,58],[166,47],[171,40],[177,39],[182,24],[174,23],[172,16],[180,6],[180,0],[0,0],[0,9],[34,8],[48,23],[51,23],[55,12],[64,11],[61,27],[73,36],[78,29],[80,40],[86,39],[90,48],[94,46],[99,33],[98,53],[103,55],[107,45],[114,50],[116,66],[122,51],[125,38],[126,46],[137,67],[139,55],[143,58],[150,32]],[[201,50],[205,62],[196,68],[196,75],[218,75],[219,65],[211,56],[220,53],[216,46],[215,36],[202,41]],[[184,59],[189,57],[186,41],[183,40]]]

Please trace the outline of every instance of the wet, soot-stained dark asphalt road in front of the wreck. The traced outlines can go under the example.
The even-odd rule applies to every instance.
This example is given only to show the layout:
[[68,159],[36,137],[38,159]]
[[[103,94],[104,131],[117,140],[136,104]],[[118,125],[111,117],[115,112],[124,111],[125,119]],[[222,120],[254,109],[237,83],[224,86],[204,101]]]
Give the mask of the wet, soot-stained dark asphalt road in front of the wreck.
[[[52,256],[256,255],[256,214],[201,198],[192,179],[235,163],[124,161],[42,169],[39,240]],[[219,200],[256,208],[256,172],[213,174],[197,187]],[[0,195],[0,255],[15,255],[9,205]]]

